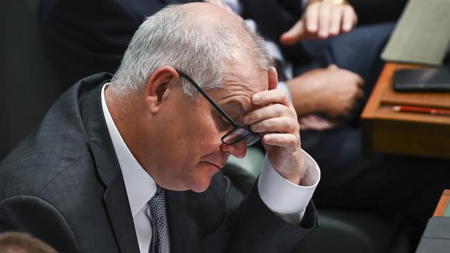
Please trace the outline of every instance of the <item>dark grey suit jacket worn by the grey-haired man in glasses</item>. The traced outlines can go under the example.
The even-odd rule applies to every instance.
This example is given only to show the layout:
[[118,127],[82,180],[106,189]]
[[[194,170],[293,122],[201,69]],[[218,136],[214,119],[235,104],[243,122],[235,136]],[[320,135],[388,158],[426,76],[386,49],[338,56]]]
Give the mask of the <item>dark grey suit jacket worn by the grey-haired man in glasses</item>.
[[[110,77],[92,75],[66,91],[1,162],[0,232],[28,232],[64,253],[138,252],[102,113],[99,84]],[[222,172],[204,193],[166,191],[171,252],[289,252],[316,226],[312,203],[303,228],[274,215],[256,186],[244,200],[236,191]]]

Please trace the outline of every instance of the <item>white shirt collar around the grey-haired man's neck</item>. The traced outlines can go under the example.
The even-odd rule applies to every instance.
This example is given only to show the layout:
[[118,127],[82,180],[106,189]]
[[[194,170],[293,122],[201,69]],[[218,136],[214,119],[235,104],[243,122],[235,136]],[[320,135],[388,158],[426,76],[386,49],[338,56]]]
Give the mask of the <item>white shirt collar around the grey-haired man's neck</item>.
[[132,216],[136,214],[147,204],[156,192],[156,182],[150,174],[143,169],[139,162],[134,158],[131,151],[129,151],[127,144],[123,141],[114,120],[111,118],[108,106],[105,100],[105,88],[109,83],[102,87],[102,109],[105,115],[106,124],[109,135],[116,151],[117,160],[122,171],[123,181],[125,182],[125,189],[127,189],[127,196],[129,207],[132,210]]

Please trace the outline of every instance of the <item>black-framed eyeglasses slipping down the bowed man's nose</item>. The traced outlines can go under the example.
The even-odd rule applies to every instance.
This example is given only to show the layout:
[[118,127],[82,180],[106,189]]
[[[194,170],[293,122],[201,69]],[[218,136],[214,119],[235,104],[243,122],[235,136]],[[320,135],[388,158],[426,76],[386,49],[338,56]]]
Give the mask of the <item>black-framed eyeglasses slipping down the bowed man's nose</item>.
[[225,120],[228,121],[231,124],[231,126],[233,126],[233,129],[231,129],[231,131],[222,136],[222,142],[224,142],[225,144],[235,144],[236,142],[245,140],[246,145],[250,146],[251,144],[254,144],[255,142],[258,142],[258,140],[260,140],[261,138],[260,135],[254,133],[253,131],[251,131],[246,127],[240,127],[238,124],[236,124],[236,122],[234,122],[234,120],[232,120],[230,116],[228,116],[228,114],[226,114],[224,110],[222,110],[222,108],[220,108],[220,106],[218,106],[205,93],[205,91],[202,88],[200,88],[200,86],[196,82],[194,82],[194,80],[192,80],[188,75],[181,72],[179,72],[179,74],[181,75],[181,77],[188,79],[188,81],[195,88],[197,88],[197,91],[199,91],[199,93],[201,93],[201,95],[203,95],[206,98],[206,100],[208,100],[208,102],[225,118]]

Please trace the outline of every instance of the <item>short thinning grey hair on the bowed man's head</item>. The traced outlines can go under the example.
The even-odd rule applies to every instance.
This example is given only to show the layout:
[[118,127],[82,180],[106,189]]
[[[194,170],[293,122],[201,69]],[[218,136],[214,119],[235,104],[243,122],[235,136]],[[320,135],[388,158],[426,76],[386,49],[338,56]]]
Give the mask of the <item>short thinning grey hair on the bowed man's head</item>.
[[[189,75],[201,88],[219,87],[223,83],[224,64],[233,58],[233,53],[248,52],[254,63],[266,71],[273,65],[263,39],[243,21],[244,29],[236,29],[229,21],[199,24],[193,19],[192,10],[178,5],[147,17],[111,79],[111,90],[118,97],[142,91],[152,73],[161,66],[172,66]],[[249,45],[243,39],[253,43]],[[195,87],[186,79],[181,78],[181,84],[188,97],[197,95]]]

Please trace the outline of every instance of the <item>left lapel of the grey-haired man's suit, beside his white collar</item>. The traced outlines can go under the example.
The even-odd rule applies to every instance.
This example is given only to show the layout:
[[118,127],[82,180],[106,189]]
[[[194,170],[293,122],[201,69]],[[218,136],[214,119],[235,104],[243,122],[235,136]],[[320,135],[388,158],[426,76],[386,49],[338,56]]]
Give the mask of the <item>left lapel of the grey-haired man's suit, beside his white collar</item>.
[[[102,73],[88,78],[89,82],[104,84],[111,75]],[[107,187],[103,197],[120,252],[139,252],[125,182],[102,111],[101,91],[102,85],[99,85],[82,99],[82,118],[98,176]]]

